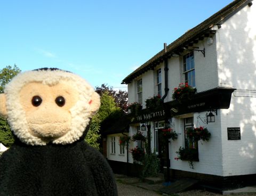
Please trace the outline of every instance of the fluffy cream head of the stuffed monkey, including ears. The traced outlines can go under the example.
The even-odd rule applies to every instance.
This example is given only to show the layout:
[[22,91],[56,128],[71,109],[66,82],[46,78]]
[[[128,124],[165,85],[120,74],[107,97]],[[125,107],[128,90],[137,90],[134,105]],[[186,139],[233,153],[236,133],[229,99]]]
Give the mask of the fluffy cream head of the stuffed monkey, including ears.
[[59,69],[20,73],[0,94],[0,115],[29,145],[77,141],[99,107],[100,97],[91,85]]

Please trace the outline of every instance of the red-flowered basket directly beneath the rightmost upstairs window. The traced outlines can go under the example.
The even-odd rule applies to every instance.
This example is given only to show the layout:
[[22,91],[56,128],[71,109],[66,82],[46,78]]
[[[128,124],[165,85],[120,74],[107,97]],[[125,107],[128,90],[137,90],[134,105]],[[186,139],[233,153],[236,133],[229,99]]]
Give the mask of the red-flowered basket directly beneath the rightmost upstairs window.
[[188,83],[180,83],[178,88],[173,89],[172,99],[181,100],[181,99],[190,99],[196,93],[196,88],[193,88],[188,85]]

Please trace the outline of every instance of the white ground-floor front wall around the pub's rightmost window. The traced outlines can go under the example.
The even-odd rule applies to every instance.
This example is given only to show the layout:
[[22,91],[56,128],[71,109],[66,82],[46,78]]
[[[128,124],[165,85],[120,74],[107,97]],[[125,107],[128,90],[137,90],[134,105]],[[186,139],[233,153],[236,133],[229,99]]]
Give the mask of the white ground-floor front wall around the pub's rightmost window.
[[[178,133],[178,139],[175,141],[171,140],[170,143],[170,161],[171,168],[178,170],[191,171],[196,173],[211,174],[211,175],[222,175],[222,156],[221,156],[221,129],[220,129],[220,117],[216,116],[216,122],[211,124],[204,124],[201,120],[197,119],[198,116],[205,117],[206,112],[194,113],[191,115],[183,115],[180,118],[175,118],[175,130]],[[189,167],[188,161],[175,160],[177,157],[177,151],[180,146],[185,147],[185,133],[183,118],[194,117],[194,126],[207,127],[211,133],[209,142],[199,141],[198,142],[198,154],[199,162],[194,161],[194,169]],[[219,122],[219,123],[218,123]]]

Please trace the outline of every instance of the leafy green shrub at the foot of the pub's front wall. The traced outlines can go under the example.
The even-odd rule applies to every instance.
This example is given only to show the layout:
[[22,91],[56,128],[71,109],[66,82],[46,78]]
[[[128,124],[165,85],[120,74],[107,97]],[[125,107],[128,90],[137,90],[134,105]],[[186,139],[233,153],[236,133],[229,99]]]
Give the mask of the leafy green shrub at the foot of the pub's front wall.
[[160,160],[155,153],[146,154],[142,160],[142,177],[156,177],[160,171]]

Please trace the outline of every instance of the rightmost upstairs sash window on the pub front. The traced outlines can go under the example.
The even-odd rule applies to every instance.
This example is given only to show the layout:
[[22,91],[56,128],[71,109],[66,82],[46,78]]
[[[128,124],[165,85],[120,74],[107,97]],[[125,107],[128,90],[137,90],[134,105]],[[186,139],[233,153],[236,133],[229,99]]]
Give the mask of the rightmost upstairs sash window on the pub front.
[[189,52],[183,56],[183,74],[185,75],[185,83],[195,87],[195,62],[193,52]]

